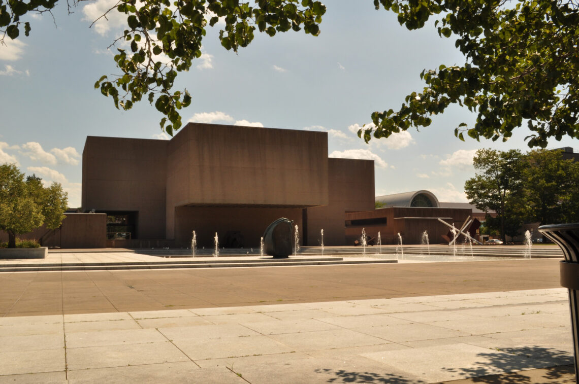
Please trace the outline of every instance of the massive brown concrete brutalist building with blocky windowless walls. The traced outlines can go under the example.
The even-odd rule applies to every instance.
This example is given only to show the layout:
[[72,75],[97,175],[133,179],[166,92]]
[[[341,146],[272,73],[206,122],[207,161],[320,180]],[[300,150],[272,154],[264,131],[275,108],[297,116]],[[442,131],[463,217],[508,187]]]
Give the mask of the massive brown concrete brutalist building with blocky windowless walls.
[[346,212],[374,206],[371,160],[328,158],[325,132],[189,123],[170,141],[88,136],[85,212],[129,213],[131,242],[199,246],[237,233],[256,247],[278,217],[294,220],[302,243],[344,245]]

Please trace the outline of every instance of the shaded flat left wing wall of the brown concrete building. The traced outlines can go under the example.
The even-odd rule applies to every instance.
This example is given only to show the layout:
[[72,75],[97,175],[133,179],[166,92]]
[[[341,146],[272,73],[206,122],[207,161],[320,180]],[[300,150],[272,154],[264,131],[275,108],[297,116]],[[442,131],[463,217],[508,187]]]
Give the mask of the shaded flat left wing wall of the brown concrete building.
[[137,236],[164,238],[167,144],[88,136],[83,150],[83,210],[138,211]]

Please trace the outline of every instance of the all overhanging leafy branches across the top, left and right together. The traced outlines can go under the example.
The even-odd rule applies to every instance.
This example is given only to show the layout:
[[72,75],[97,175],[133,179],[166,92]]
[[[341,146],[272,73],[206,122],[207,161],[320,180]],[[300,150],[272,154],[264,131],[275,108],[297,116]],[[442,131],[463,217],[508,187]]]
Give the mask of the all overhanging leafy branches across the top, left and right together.
[[[58,0],[0,0],[0,34],[30,34],[21,18],[50,12]],[[77,5],[79,0],[72,0]],[[545,147],[549,138],[579,138],[579,5],[577,0],[374,0],[376,9],[398,14],[408,29],[424,27],[435,17],[444,38],[455,38],[464,65],[424,70],[422,91],[406,96],[398,110],[372,113],[373,124],[358,135],[387,138],[410,127],[431,124],[433,115],[451,105],[466,106],[476,123],[460,123],[455,135],[503,141],[527,124],[530,147]],[[71,6],[69,4],[69,6]],[[356,5],[360,6],[360,5]],[[201,56],[206,28],[221,18],[219,39],[237,51],[254,39],[290,29],[318,35],[325,6],[314,0],[119,0],[109,12],[126,14],[127,24],[114,60],[120,74],[102,76],[95,84],[116,108],[131,109],[147,99],[162,112],[168,134],[181,127],[179,110],[188,106],[187,90],[173,90],[178,72],[188,71]]]

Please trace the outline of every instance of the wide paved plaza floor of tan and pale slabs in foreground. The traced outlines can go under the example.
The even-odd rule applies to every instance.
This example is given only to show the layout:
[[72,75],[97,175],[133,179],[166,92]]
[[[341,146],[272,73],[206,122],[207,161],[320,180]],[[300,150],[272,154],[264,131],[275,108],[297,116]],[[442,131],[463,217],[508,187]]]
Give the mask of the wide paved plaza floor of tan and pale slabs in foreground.
[[571,383],[559,260],[0,273],[0,383]]

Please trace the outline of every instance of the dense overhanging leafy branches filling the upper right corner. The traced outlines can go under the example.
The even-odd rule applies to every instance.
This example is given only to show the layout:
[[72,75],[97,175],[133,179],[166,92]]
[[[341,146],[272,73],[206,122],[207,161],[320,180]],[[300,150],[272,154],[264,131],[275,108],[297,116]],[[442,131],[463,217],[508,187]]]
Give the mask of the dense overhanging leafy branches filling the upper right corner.
[[438,34],[456,38],[463,65],[424,70],[421,92],[406,96],[398,110],[372,114],[373,126],[358,136],[368,142],[410,127],[427,127],[431,117],[450,105],[477,114],[455,135],[502,138],[527,124],[530,147],[547,139],[579,138],[579,3],[576,0],[374,0],[391,10],[408,29],[426,25],[431,16]]

